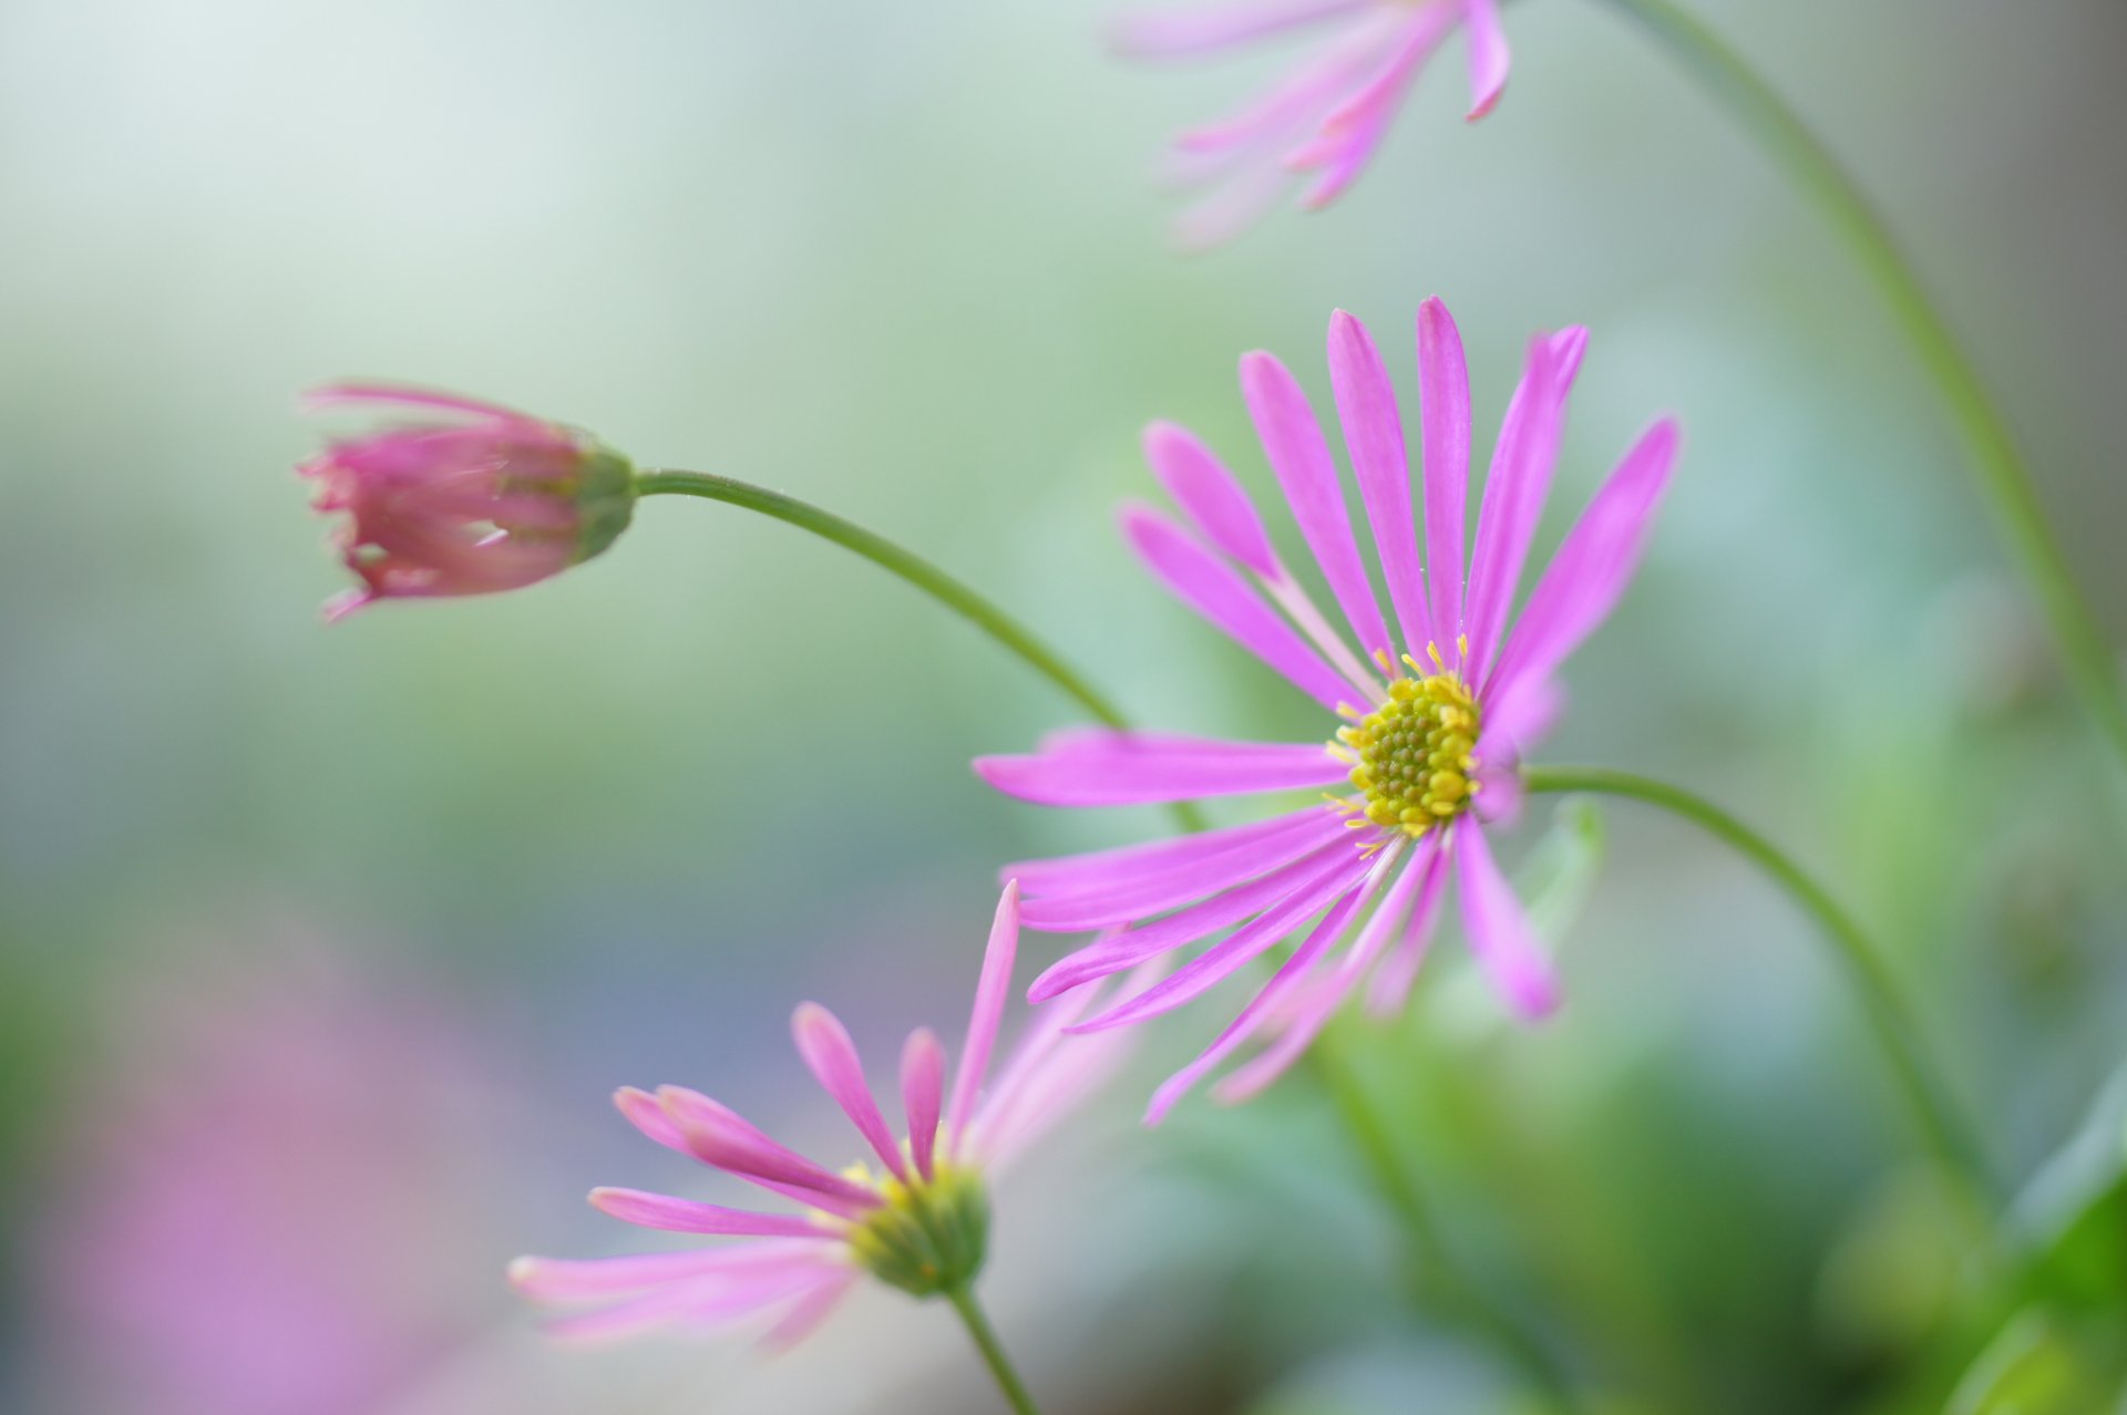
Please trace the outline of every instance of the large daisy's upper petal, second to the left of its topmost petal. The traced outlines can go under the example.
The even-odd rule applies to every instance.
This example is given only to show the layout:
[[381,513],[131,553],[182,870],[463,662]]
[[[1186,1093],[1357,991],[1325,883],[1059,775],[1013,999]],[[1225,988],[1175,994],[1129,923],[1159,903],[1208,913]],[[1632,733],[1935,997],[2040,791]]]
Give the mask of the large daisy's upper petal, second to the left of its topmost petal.
[[1338,482],[1336,461],[1323,440],[1314,408],[1291,372],[1268,353],[1251,353],[1240,359],[1240,393],[1255,421],[1255,436],[1270,457],[1285,499],[1293,508],[1293,521],[1314,552],[1329,580],[1344,618],[1359,635],[1359,650],[1372,654],[1391,650],[1389,627],[1374,603],[1374,586],[1366,578],[1359,561],[1359,544],[1351,533],[1351,516],[1344,510],[1344,489]]

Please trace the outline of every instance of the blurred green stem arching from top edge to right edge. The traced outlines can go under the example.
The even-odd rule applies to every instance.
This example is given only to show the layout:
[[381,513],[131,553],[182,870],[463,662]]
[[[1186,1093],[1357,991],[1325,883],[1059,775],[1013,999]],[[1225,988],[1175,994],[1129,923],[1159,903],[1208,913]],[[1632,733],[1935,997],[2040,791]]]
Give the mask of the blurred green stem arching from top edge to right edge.
[[1714,98],[1729,106],[1853,249],[1906,338],[1912,340],[1921,368],[1942,393],[2084,705],[2127,761],[2127,684],[2046,523],[2046,510],[2008,419],[1861,185],[1742,55],[1699,19],[1672,0],[1610,0],[1610,4],[1646,25]]

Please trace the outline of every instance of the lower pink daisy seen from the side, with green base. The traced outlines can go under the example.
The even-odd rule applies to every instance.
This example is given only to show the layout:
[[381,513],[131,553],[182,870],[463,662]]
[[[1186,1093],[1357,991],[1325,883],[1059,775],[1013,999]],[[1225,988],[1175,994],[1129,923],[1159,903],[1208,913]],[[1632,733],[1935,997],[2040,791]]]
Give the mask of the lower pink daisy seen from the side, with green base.
[[1036,1013],[991,1081],[989,1060],[1017,950],[1019,888],[1006,884],[951,1094],[936,1035],[910,1033],[902,1047],[908,1126],[902,1139],[864,1079],[849,1030],[817,1003],[798,1007],[791,1020],[798,1054],[864,1137],[872,1162],[825,1169],[732,1109],[679,1086],[615,1094],[621,1113],[659,1145],[793,1200],[798,1213],[591,1190],[591,1205],[617,1220],[742,1241],[581,1262],[519,1258],[510,1264],[510,1281],[534,1298],[596,1305],[555,1324],[570,1334],[766,1317],[768,1343],[778,1347],[810,1334],[866,1275],[919,1298],[964,1290],[989,1247],[989,1181],[1085,1101],[1123,1056],[1106,1037],[1066,1035],[1087,1007],[1072,996]]

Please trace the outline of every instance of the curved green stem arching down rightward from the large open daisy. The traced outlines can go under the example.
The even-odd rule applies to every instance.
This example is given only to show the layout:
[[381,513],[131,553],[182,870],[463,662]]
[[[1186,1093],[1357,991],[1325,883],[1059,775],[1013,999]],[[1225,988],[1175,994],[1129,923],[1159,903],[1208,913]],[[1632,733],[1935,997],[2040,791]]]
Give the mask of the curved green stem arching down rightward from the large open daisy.
[[1987,1154],[1972,1126],[1950,1103],[1948,1088],[1929,1064],[1919,1026],[1897,982],[1891,977],[1891,969],[1885,965],[1882,954],[1876,952],[1876,945],[1870,943],[1861,924],[1840,907],[1823,884],[1810,877],[1772,841],[1719,805],[1668,782],[1655,782],[1629,771],[1610,771],[1606,767],[1527,767],[1523,780],[1529,790],[1587,790],[1659,805],[1672,816],[1682,816],[1765,871],[1823,931],[1844,965],[1846,975],[1861,994],[1861,1009],[1868,1016],[1870,1030],[1891,1062],[1899,1092],[1910,1103],[1927,1147],[1944,1169],[1963,1177],[1974,1194],[1984,1196],[1991,1205],[2002,1203],[2002,1186],[1993,1166],[1987,1162]]

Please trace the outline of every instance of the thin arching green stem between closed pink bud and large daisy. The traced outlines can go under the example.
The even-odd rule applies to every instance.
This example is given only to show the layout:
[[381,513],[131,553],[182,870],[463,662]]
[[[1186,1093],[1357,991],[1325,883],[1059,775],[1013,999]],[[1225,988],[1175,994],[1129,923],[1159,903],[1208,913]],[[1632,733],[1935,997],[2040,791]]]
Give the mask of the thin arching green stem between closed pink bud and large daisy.
[[[964,582],[925,561],[915,550],[898,546],[885,535],[864,529],[855,521],[847,521],[844,516],[836,516],[832,510],[813,506],[810,501],[800,501],[798,497],[783,495],[781,491],[755,487],[753,482],[740,482],[730,476],[715,476],[710,472],[674,472],[666,467],[644,470],[636,474],[636,495],[681,495],[742,506],[793,525],[800,531],[810,531],[813,535],[830,540],[844,550],[853,550],[881,569],[915,584],[919,591],[972,623],[991,640],[1004,644],[1004,648],[1019,654],[1027,667],[1061,688],[1066,697],[1100,718],[1106,727],[1129,731],[1129,718],[1125,718],[1115,703],[1098,693],[1093,684],[1078,674],[1078,669],[1068,665],[1061,654],[1036,637],[1032,629]],[[1176,803],[1172,809],[1174,818],[1183,822],[1183,829],[1204,829],[1204,818],[1195,805],[1185,801]]]

